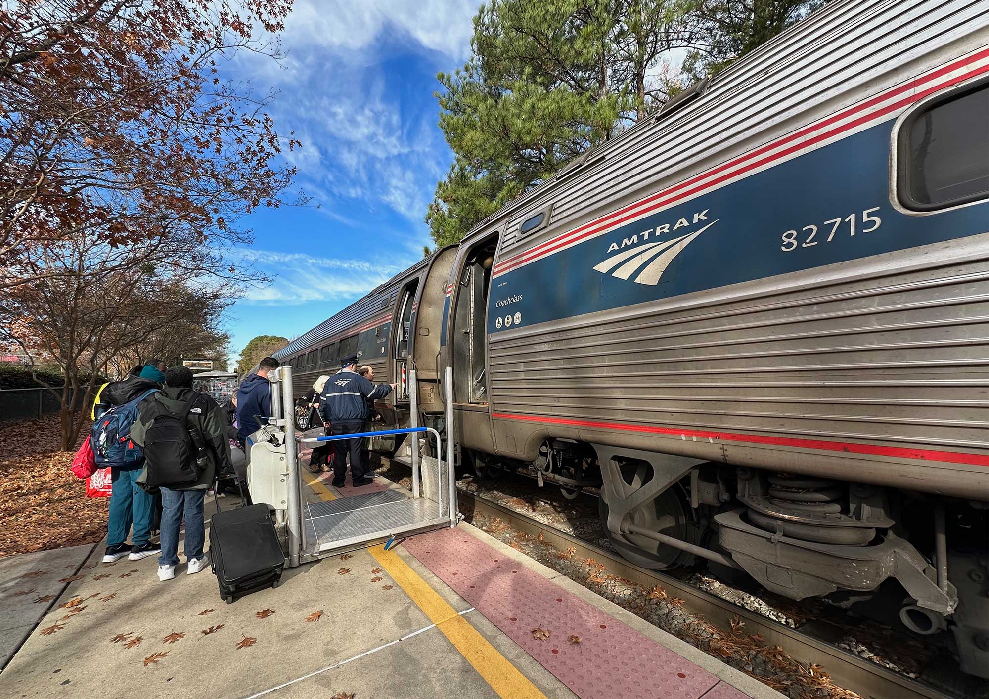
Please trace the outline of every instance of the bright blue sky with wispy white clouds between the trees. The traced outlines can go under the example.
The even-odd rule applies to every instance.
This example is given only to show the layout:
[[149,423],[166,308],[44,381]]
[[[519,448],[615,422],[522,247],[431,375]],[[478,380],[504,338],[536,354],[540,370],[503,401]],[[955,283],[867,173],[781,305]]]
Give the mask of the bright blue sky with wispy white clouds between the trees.
[[436,72],[468,58],[480,4],[296,0],[282,64],[242,55],[230,66],[278,90],[271,114],[303,140],[289,157],[313,197],[240,220],[255,242],[238,254],[273,283],[229,313],[232,359],[255,335],[305,332],[421,258],[426,206],[453,159]]

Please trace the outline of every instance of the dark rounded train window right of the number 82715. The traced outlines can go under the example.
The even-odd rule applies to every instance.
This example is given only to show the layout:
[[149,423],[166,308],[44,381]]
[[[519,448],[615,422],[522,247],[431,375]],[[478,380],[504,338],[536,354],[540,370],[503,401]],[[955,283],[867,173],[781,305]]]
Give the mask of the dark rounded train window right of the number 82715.
[[925,105],[900,129],[897,191],[928,212],[989,197],[989,83]]

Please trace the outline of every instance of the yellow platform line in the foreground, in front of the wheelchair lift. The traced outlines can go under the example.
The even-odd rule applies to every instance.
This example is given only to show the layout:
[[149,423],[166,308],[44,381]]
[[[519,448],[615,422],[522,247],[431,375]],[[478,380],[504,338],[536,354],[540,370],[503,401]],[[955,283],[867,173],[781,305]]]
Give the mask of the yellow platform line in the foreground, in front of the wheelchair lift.
[[485,678],[498,696],[546,699],[546,695],[539,691],[536,685],[504,655],[498,653],[477,629],[457,614],[456,610],[412,568],[409,568],[394,550],[385,551],[384,546],[375,546],[370,551],[388,574],[402,585],[405,593],[429,617],[436,628],[443,632],[454,648]]

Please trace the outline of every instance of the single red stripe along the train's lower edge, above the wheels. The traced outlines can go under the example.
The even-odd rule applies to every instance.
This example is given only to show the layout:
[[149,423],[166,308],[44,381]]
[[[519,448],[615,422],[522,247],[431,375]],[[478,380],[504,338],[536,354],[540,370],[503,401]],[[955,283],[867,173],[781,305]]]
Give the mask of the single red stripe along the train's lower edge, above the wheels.
[[750,444],[767,444],[775,447],[797,447],[799,449],[818,449],[828,452],[845,452],[848,454],[868,454],[871,456],[895,457],[898,459],[918,459],[921,461],[939,461],[947,464],[968,464],[971,466],[989,467],[989,456],[967,454],[965,452],[941,452],[930,449],[905,449],[903,447],[881,447],[877,444],[855,444],[853,442],[831,442],[823,439],[797,439],[793,437],[770,437],[762,434],[740,434],[736,432],[711,432],[709,430],[685,430],[674,427],[652,427],[649,425],[632,425],[624,422],[599,422],[596,420],[574,420],[563,417],[537,417],[535,415],[515,415],[507,412],[495,412],[494,417],[506,420],[524,420],[526,422],[545,422],[554,425],[572,425],[577,427],[600,427],[604,429],[623,430],[626,432],[647,432],[650,434],[670,434],[684,437],[701,437],[725,442],[747,442]]

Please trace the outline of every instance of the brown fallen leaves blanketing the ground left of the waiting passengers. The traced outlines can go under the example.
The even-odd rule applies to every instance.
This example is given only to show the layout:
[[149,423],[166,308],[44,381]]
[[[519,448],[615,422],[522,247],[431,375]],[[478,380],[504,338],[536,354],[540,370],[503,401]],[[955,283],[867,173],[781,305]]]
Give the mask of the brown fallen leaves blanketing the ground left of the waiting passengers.
[[109,498],[86,497],[69,468],[75,449],[52,450],[59,431],[57,414],[0,430],[0,557],[95,544],[107,533]]

